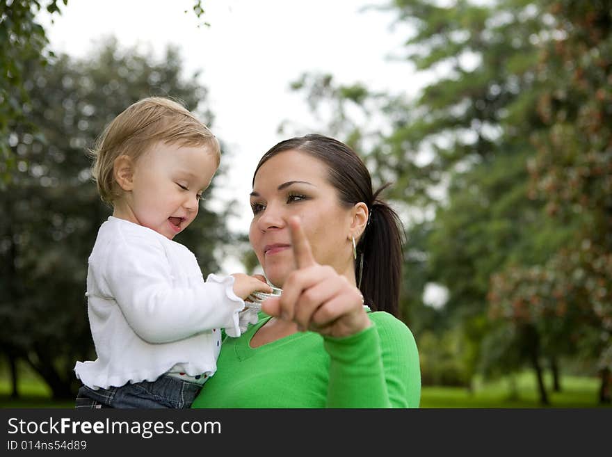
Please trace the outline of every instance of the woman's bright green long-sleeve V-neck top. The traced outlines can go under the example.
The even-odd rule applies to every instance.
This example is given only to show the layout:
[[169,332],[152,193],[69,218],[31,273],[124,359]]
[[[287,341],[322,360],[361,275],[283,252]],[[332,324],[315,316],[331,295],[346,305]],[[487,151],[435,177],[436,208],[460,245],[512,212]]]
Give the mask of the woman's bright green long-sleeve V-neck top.
[[226,337],[217,371],[192,408],[417,408],[421,371],[410,329],[386,312],[356,335],[298,332],[257,348],[250,339],[270,316],[241,337]]

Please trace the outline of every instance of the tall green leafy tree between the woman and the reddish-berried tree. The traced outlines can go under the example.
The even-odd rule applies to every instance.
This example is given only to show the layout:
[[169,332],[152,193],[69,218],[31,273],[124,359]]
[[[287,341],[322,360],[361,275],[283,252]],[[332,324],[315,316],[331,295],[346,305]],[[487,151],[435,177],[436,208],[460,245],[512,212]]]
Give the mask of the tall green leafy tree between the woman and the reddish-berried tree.
[[[365,89],[351,97],[354,90],[300,81],[309,82],[311,101],[322,93],[360,106],[376,102],[386,128],[367,136],[360,125],[352,129],[360,134],[348,138],[369,139],[361,150],[381,182],[394,182],[389,197],[402,214],[420,212],[429,220],[421,244],[426,273],[419,272],[423,264],[405,264],[409,278],[424,279],[412,284],[421,287],[412,290],[412,307],[427,281],[444,284],[450,294],[442,328],[463,326],[472,348],[486,332],[489,275],[529,248],[526,235],[540,218],[541,205],[526,199],[533,147],[523,127],[542,127],[535,110],[537,51],[529,37],[545,27],[531,2],[474,3],[397,0],[389,7],[414,30],[406,60],[434,75],[416,99]],[[336,104],[342,122],[332,125],[350,126],[347,103]],[[477,355],[466,360],[473,372]]]

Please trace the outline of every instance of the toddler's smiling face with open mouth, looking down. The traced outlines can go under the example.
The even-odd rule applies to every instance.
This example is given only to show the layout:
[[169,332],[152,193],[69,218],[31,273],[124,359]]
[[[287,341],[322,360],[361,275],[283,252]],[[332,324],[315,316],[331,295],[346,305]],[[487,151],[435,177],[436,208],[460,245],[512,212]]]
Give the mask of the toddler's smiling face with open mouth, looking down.
[[173,239],[198,214],[202,192],[217,170],[207,146],[156,143],[134,166],[126,195],[134,223]]

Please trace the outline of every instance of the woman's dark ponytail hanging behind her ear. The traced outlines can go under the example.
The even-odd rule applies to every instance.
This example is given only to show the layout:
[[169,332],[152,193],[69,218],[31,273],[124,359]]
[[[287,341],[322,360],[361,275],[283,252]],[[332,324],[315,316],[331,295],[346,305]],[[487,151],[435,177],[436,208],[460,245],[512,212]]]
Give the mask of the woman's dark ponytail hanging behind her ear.
[[365,303],[373,311],[398,316],[403,225],[394,209],[378,198],[388,185],[374,193],[368,225],[357,246],[355,273]]

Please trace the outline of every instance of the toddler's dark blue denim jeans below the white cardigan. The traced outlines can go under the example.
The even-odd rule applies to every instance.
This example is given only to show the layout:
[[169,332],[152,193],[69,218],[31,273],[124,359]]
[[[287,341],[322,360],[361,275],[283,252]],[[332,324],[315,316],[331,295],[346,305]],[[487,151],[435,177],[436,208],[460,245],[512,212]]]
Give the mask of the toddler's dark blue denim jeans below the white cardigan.
[[201,387],[166,375],[108,389],[82,385],[75,408],[189,408]]

